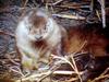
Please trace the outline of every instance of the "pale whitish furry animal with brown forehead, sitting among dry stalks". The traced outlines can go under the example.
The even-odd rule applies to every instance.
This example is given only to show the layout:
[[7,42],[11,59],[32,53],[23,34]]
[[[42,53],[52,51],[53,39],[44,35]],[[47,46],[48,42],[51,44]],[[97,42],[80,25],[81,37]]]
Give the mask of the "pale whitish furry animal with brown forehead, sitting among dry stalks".
[[24,69],[37,68],[38,58],[48,58],[58,48],[65,30],[44,10],[32,9],[24,14],[16,27],[16,47]]

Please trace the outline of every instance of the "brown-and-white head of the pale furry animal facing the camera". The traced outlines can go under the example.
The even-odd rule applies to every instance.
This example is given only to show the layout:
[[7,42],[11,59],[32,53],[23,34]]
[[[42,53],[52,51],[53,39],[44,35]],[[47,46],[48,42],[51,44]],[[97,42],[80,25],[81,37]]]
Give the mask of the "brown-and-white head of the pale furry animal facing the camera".
[[33,10],[27,17],[28,38],[34,42],[46,39],[52,31],[52,19],[43,10]]

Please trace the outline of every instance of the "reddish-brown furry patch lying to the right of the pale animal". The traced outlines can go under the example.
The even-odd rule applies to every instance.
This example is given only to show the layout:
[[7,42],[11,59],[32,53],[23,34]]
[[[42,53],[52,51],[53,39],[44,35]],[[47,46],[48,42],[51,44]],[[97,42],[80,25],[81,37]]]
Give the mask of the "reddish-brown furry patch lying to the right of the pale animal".
[[82,45],[86,42],[81,51],[88,51],[95,57],[106,56],[107,38],[98,34],[95,30],[87,32],[81,27],[68,30],[68,38],[63,40],[64,51],[68,54],[80,51]]

